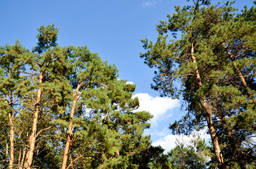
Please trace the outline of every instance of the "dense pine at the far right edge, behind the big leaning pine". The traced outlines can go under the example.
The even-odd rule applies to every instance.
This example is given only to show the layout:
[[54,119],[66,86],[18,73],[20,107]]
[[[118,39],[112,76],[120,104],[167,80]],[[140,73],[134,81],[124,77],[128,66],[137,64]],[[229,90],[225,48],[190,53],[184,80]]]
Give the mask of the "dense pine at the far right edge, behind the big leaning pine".
[[[229,11],[234,11],[229,7]],[[255,154],[255,6],[245,7],[234,17],[226,13],[212,27],[214,54],[222,60],[221,68],[214,71],[217,84],[211,96],[219,118],[219,135],[223,139],[224,156],[231,165],[236,161],[240,168],[253,163]],[[232,156],[231,156],[232,154]]]

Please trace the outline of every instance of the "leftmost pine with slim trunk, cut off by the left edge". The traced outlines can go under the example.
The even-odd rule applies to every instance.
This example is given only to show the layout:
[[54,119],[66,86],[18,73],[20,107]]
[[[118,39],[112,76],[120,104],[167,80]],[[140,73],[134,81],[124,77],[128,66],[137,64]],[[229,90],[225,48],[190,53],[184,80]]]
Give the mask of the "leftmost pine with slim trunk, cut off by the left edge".
[[[26,53],[28,53],[28,51],[24,49],[18,41],[15,45],[6,44],[6,46],[0,46],[0,112],[2,117],[8,117],[8,125],[10,126],[10,130],[6,131],[6,135],[9,136],[6,145],[10,144],[9,168],[13,168],[14,162],[15,118],[20,109],[20,95],[24,92],[22,88],[25,79],[20,74],[21,71],[25,69],[22,55]],[[3,123],[3,126],[7,125],[4,122],[6,122],[6,119],[1,120],[1,123]],[[4,130],[1,130],[1,132],[3,131]],[[6,152],[8,152],[8,149],[6,149]],[[6,158],[8,158],[8,156],[6,156]],[[3,161],[3,164],[4,163]]]

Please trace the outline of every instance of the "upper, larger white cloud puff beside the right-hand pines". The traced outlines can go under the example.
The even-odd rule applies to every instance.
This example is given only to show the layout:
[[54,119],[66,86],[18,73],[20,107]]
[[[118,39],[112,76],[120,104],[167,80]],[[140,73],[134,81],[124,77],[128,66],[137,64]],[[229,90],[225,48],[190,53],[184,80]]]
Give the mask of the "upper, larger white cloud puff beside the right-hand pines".
[[[136,111],[149,111],[154,118],[150,123],[157,126],[157,121],[170,118],[172,108],[180,106],[178,99],[171,99],[169,97],[153,97],[147,93],[138,93],[133,97],[138,97],[140,100],[140,107]],[[169,114],[167,114],[169,113]]]

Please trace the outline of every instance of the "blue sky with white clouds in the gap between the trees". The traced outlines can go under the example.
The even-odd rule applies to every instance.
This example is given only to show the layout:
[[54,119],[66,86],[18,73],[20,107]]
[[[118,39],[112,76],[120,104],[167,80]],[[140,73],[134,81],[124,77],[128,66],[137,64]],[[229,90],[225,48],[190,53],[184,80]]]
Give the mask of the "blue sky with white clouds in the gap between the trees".
[[[224,3],[224,0],[219,2]],[[168,126],[184,114],[181,101],[160,98],[150,88],[153,70],[140,58],[146,37],[157,38],[156,24],[173,13],[174,6],[191,4],[186,0],[2,0],[0,1],[0,45],[20,40],[27,49],[37,43],[36,28],[55,23],[60,27],[60,46],[84,46],[99,53],[102,60],[115,64],[119,78],[137,84],[135,96],[140,109],[150,111],[154,119],[145,134],[152,135],[154,145],[167,151],[175,146],[175,138]],[[217,4],[217,1],[214,1]],[[252,0],[237,0],[234,5],[242,9],[252,6]],[[204,133],[204,132],[202,132]],[[207,137],[207,136],[205,136]]]

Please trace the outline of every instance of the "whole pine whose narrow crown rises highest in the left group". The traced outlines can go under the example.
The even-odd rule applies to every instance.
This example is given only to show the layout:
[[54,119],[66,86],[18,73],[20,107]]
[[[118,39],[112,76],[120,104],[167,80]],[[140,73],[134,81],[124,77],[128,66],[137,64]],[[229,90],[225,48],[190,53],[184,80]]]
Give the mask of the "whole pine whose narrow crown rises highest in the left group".
[[58,30],[54,27],[54,24],[39,27],[37,46],[32,50],[33,54],[29,58],[24,58],[30,65],[31,70],[27,74],[30,75],[30,80],[33,80],[30,92],[37,91],[36,95],[33,94],[35,99],[33,96],[30,97],[35,106],[32,109],[32,130],[28,139],[29,146],[24,162],[25,168],[31,168],[36,139],[45,130],[37,130],[38,120],[41,120],[44,115],[47,117],[47,110],[58,102],[59,92],[62,89],[61,83],[65,80],[63,74],[67,69],[66,55],[63,48],[56,44]]

